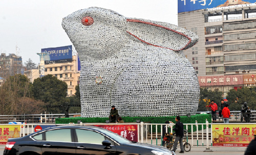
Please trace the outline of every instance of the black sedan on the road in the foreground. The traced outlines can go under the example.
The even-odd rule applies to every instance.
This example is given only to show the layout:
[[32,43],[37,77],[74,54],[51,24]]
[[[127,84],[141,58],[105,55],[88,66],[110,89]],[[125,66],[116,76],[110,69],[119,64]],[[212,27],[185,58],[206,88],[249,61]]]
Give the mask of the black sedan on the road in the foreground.
[[175,154],[162,146],[133,143],[96,126],[56,126],[22,138],[11,138],[4,155],[10,154]]

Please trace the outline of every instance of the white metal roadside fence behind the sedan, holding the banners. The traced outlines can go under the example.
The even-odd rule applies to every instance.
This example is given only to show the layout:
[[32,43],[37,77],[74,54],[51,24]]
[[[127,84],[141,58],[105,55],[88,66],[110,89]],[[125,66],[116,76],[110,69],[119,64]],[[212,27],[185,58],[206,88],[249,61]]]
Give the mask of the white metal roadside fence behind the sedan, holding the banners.
[[[214,123],[215,125],[223,124],[223,123]],[[241,124],[241,123],[232,123],[232,124]],[[256,123],[247,123],[253,124],[256,126]],[[7,124],[0,124],[7,125]],[[8,125],[17,125],[17,124],[8,124]],[[39,123],[39,124],[22,124],[20,125],[20,137],[26,136],[34,132],[34,128],[36,125],[44,126],[44,125],[137,125],[138,131],[138,142],[148,143],[153,145],[161,145],[162,142],[162,129],[165,125],[168,126],[169,132],[173,132],[173,125],[175,124],[152,124],[152,123],[83,123],[83,124],[47,124],[47,123]],[[190,143],[191,147],[212,147],[212,128],[211,123],[189,123],[184,124],[184,129],[190,130],[188,132],[187,141]],[[199,130],[199,126],[201,126],[201,130]],[[160,128],[160,131],[158,130]],[[205,129],[204,129],[205,128]],[[193,130],[196,131],[193,131]],[[167,131],[166,131],[167,132]]]

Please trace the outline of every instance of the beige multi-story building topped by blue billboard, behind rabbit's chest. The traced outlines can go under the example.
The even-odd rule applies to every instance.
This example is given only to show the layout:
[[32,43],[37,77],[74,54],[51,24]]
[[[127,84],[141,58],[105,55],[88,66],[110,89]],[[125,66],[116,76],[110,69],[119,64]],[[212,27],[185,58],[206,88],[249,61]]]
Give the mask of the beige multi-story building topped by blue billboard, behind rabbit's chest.
[[[42,54],[44,53],[44,54]],[[47,53],[47,54],[46,54]],[[52,74],[68,84],[68,96],[75,95],[75,86],[79,84],[80,62],[72,46],[41,49],[39,76]]]

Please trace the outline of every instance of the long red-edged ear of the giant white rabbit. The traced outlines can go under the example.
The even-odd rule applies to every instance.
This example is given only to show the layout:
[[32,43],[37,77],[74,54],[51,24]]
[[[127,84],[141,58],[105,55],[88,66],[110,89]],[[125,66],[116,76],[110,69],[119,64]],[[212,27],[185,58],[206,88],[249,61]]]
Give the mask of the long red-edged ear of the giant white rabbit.
[[145,19],[126,20],[127,32],[148,45],[180,51],[198,42],[195,33],[176,25]]

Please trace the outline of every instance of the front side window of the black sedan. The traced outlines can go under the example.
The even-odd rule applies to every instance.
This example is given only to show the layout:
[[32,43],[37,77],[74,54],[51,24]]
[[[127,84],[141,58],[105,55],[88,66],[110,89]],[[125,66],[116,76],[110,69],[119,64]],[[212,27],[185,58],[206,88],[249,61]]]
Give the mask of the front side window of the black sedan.
[[105,137],[98,132],[84,129],[76,129],[78,143],[102,144]]

